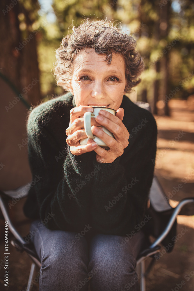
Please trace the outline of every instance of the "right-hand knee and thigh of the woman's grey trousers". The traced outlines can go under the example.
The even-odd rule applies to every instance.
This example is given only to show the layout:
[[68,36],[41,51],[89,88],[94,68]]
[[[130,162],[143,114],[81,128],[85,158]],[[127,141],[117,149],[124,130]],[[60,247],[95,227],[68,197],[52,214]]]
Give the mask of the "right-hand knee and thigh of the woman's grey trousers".
[[[122,290],[136,278],[136,258],[129,248],[118,244],[120,239],[119,236],[99,235],[92,242],[89,270],[96,269],[91,279],[92,291]],[[135,281],[135,284],[138,283]]]

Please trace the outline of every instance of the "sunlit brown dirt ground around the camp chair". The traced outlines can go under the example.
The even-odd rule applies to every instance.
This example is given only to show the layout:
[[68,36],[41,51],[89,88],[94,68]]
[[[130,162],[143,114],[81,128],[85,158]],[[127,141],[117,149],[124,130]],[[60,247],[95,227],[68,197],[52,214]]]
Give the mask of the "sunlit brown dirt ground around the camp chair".
[[[166,195],[171,197],[171,206],[175,207],[181,199],[194,197],[194,110],[189,109],[185,101],[171,101],[171,117],[154,116],[158,126],[155,175]],[[174,189],[177,189],[176,193]],[[22,212],[24,202],[25,198],[10,212],[22,236],[29,232],[31,222]],[[185,234],[180,235],[182,228],[185,229]],[[161,258],[146,279],[147,291],[194,291],[194,215],[178,215],[177,236],[172,253],[166,253],[165,249],[161,248]],[[12,239],[11,233],[9,239]],[[4,287],[3,245],[1,240],[0,289],[26,290],[31,259],[26,253],[19,253],[9,245],[9,287]],[[147,259],[146,265],[149,262],[150,258]],[[36,276],[38,271],[37,269]],[[38,291],[38,282],[35,281],[37,278],[33,281],[32,291]]]

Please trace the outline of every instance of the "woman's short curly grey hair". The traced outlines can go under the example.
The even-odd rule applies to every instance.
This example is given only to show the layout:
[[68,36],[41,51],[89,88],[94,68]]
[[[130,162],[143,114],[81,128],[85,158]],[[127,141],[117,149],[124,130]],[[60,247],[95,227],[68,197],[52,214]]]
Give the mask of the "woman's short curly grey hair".
[[123,33],[107,19],[90,21],[86,19],[75,27],[73,32],[63,37],[60,47],[56,49],[54,75],[57,85],[68,90],[69,79],[72,75],[74,58],[81,49],[92,48],[97,54],[104,54],[104,61],[112,61],[112,53],[121,54],[125,61],[125,92],[140,83],[139,75],[144,70],[143,58],[136,51],[136,40]]

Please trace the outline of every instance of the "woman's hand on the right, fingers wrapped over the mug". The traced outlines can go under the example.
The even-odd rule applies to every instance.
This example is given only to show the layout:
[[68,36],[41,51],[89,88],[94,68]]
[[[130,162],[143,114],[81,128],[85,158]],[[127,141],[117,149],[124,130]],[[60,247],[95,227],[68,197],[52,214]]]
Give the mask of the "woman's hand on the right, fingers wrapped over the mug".
[[[97,153],[97,162],[112,163],[117,157],[123,154],[124,148],[127,148],[127,145],[129,144],[129,132],[122,123],[123,116],[123,108],[119,108],[115,116],[110,112],[101,109],[99,111],[99,115],[95,118],[100,125],[106,127],[110,132],[113,133],[115,137],[114,139],[95,125],[91,127],[93,135],[98,136],[109,147],[109,150],[105,150],[104,148],[97,145],[97,147],[94,149],[94,151]],[[92,139],[88,140],[88,143],[92,142]]]

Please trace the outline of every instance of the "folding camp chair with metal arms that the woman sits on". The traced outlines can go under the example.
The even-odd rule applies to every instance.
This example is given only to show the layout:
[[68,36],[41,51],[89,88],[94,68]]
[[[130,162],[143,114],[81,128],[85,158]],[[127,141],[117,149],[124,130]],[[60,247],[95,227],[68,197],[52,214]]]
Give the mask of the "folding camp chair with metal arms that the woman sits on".
[[[148,103],[144,102],[136,102],[138,106],[143,107],[147,110],[150,110],[150,106]],[[26,291],[31,290],[31,282],[34,278],[36,266],[40,269],[41,262],[38,258],[38,255],[35,251],[34,245],[31,241],[26,242],[24,237],[22,237],[16,230],[13,222],[11,221],[8,214],[8,202],[10,199],[20,199],[24,198],[28,195],[26,192],[26,185],[14,189],[12,191],[0,191],[0,216],[4,221],[8,221],[9,230],[15,237],[15,239],[11,240],[11,244],[18,251],[25,251],[32,260],[31,270],[29,274],[29,280]],[[22,190],[24,189],[25,195],[21,195]],[[186,205],[191,205],[191,209],[186,208]],[[149,193],[149,208],[147,209],[147,214],[149,214],[152,219],[150,219],[145,224],[146,230],[146,240],[144,248],[138,255],[137,258],[137,267],[136,270],[138,274],[140,274],[140,291],[145,291],[145,278],[149,273],[151,267],[154,262],[156,262],[155,258],[159,254],[159,249],[161,245],[166,246],[168,242],[172,242],[171,238],[176,235],[176,217],[178,214],[181,215],[194,215],[194,198],[185,198],[179,202],[177,207],[172,208],[168,202],[168,198],[165,196],[165,193],[156,178],[154,176],[152,186]],[[28,236],[28,235],[27,235]],[[154,243],[150,242],[149,236],[155,238]],[[171,248],[167,250],[167,252],[171,252],[173,249],[173,245]],[[146,258],[152,258],[152,261],[145,271],[145,260]],[[89,288],[90,289],[90,288]]]

